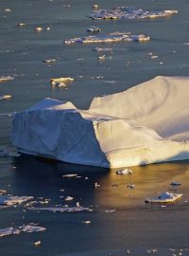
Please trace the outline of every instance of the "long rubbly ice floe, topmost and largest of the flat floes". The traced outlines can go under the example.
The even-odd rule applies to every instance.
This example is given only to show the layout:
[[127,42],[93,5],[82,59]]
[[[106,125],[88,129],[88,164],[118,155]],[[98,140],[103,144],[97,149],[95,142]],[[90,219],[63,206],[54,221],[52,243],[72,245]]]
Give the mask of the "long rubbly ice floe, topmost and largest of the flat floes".
[[145,19],[165,17],[178,13],[177,9],[153,10],[135,9],[131,7],[117,7],[115,9],[97,9],[93,10],[89,16],[94,20],[120,20],[120,19]]

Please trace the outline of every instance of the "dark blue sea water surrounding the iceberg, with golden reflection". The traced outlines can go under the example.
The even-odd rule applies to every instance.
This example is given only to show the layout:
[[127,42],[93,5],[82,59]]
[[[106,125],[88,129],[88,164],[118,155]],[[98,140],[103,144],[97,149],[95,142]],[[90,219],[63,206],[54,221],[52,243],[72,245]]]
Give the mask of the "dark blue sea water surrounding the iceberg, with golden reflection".
[[[88,16],[94,4],[102,9],[178,9],[178,14],[143,20],[91,20]],[[96,96],[121,92],[156,76],[189,76],[188,9],[188,0],[0,0],[0,78],[12,78],[0,82],[0,97],[11,96],[0,100],[0,153],[13,152],[13,113],[43,98],[72,101],[87,109]],[[63,44],[65,39],[89,35],[86,29],[91,26],[100,27],[101,35],[144,33],[150,41]],[[112,52],[94,52],[96,46],[112,47]],[[104,54],[105,60],[99,61]],[[43,63],[49,59],[56,62]],[[59,77],[75,81],[52,87],[50,80]],[[117,175],[115,170],[0,155],[0,190],[33,196],[29,202],[0,208],[0,234],[1,229],[30,223],[45,228],[0,237],[0,255],[189,255],[189,162],[133,167],[132,171]],[[63,177],[65,174],[77,176]],[[173,188],[172,181],[181,185]],[[129,184],[135,188],[129,189]],[[146,197],[167,190],[181,192],[183,198],[168,206],[145,204]],[[73,200],[66,201],[66,196]],[[90,211],[31,208],[78,204]]]

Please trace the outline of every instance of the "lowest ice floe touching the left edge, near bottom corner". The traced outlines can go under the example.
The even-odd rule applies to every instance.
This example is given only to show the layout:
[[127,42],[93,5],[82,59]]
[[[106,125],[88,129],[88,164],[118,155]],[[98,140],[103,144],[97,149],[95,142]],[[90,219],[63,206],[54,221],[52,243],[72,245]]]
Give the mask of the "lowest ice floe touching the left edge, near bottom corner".
[[31,223],[28,225],[20,226],[18,229],[12,227],[6,229],[0,229],[0,237],[8,236],[11,234],[20,234],[21,232],[32,233],[43,231],[45,228],[38,226],[37,224]]

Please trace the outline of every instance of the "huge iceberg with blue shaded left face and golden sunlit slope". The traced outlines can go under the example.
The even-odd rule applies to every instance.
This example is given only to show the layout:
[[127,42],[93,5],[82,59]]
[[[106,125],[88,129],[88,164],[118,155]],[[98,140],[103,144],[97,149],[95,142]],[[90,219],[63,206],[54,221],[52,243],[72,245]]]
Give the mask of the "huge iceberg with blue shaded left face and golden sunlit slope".
[[12,120],[21,153],[105,168],[189,159],[189,77],[156,77],[94,98],[89,110],[45,99]]

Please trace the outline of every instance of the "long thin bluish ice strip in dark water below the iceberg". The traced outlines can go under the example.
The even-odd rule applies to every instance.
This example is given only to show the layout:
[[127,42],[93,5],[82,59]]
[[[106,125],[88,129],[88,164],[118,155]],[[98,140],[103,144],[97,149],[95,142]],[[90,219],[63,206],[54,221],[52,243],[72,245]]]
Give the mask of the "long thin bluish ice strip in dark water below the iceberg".
[[86,207],[30,207],[28,210],[48,210],[48,211],[60,211],[60,212],[77,212],[77,211],[92,211]]

